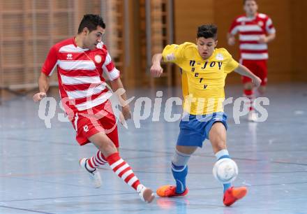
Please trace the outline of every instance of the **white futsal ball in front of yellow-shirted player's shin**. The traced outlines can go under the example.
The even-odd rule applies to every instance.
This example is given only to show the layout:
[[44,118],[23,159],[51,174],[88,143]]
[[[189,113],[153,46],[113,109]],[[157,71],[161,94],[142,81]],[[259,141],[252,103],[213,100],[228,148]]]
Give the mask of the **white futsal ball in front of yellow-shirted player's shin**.
[[234,181],[238,176],[238,166],[230,158],[219,159],[214,164],[214,178],[221,183],[230,183]]

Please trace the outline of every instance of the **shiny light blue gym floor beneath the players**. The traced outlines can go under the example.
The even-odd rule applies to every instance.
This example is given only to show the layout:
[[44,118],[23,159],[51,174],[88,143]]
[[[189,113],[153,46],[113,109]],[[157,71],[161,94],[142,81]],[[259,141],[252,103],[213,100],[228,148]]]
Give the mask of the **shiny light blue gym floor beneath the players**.
[[[163,92],[163,104],[181,94],[179,88]],[[156,90],[130,90],[132,96],[154,99]],[[226,87],[226,96],[240,97],[241,85]],[[307,85],[269,85],[267,97],[266,122],[247,122],[245,116],[235,124],[232,106],[225,108],[228,150],[239,166],[234,185],[248,187],[247,196],[232,207],[223,206],[222,185],[212,176],[216,159],[209,141],[190,159],[186,197],[156,197],[144,204],[109,166],[100,169],[103,186],[91,187],[78,160],[96,148],[76,143],[72,125],[57,119],[59,106],[47,129],[30,96],[5,101],[0,106],[0,213],[307,213]],[[119,138],[123,159],[156,190],[174,183],[170,160],[179,121],[165,122],[161,114],[160,122],[152,122],[152,108],[140,129],[132,120],[128,129],[119,125]]]

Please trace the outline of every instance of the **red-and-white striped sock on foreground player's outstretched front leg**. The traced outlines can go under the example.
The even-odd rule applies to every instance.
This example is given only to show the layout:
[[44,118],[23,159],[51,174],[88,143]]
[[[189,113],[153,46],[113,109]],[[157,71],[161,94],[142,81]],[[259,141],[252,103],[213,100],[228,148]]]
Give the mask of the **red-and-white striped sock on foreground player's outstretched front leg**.
[[107,162],[110,164],[111,169],[114,173],[123,179],[130,187],[137,190],[137,186],[140,185],[140,180],[133,173],[131,167],[119,156],[119,153],[113,153],[107,158]]

